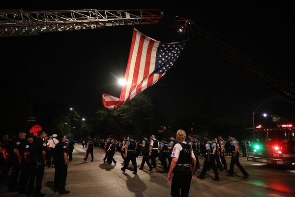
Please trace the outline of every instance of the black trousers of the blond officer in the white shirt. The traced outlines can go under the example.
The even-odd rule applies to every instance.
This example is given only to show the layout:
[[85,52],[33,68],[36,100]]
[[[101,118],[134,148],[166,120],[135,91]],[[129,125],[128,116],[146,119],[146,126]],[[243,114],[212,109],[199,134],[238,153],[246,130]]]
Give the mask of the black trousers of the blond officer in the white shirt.
[[188,197],[191,180],[192,171],[189,167],[178,169],[178,167],[175,166],[171,183],[171,196]]

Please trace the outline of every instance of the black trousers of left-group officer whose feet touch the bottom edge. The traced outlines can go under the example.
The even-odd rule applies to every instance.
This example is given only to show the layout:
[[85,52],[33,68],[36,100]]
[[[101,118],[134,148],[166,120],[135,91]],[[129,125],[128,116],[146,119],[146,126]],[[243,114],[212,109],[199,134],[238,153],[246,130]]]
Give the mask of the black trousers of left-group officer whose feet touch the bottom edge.
[[28,192],[32,193],[34,191],[35,182],[36,182],[35,193],[41,192],[43,176],[44,176],[44,164],[42,162],[40,163],[40,165],[36,164],[36,162],[29,164]]

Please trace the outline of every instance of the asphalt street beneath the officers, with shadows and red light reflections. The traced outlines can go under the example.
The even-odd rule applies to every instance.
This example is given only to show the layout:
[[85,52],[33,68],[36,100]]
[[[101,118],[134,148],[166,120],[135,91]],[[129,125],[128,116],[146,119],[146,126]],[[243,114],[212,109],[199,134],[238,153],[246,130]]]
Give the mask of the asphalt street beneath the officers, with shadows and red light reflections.
[[[160,164],[152,172],[145,165],[144,170],[132,174],[132,165],[121,171],[122,158],[115,154],[117,165],[103,163],[104,150],[95,148],[94,162],[84,162],[86,149],[76,144],[73,161],[68,164],[66,189],[68,197],[169,197],[171,185],[167,181],[167,173],[163,173]],[[226,158],[228,165],[230,157]],[[137,158],[137,165],[142,157]],[[201,169],[203,159],[200,158]],[[168,161],[167,161],[168,162]],[[189,195],[191,197],[295,197],[295,169],[281,169],[267,164],[248,162],[240,158],[240,163],[250,174],[248,179],[242,178],[242,173],[235,167],[235,176],[228,177],[226,172],[219,172],[220,181],[212,181],[213,171],[207,171],[204,180],[193,176]],[[198,170],[197,174],[201,172]],[[54,193],[54,168],[45,168],[42,192],[46,197],[60,196]],[[16,192],[8,192],[7,180],[0,185],[1,197],[25,197]]]

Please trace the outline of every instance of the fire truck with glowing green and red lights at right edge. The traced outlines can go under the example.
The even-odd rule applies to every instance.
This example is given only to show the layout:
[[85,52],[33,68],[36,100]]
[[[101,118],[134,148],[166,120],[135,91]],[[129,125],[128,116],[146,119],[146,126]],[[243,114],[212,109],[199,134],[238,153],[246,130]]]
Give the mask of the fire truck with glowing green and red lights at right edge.
[[295,127],[292,124],[278,125],[274,129],[256,127],[252,142],[253,156],[250,162],[295,166]]

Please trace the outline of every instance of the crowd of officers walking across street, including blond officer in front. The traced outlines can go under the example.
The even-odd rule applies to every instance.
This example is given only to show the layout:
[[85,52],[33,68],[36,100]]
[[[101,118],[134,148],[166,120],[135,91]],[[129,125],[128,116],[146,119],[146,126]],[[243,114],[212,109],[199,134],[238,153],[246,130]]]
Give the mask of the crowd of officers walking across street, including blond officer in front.
[[[196,173],[200,168],[199,155],[201,154],[201,142],[196,136],[188,136],[187,141],[185,131],[177,131],[177,139],[173,135],[170,135],[168,139],[157,140],[154,135],[144,136],[141,143],[137,143],[133,140],[133,136],[129,135],[124,137],[120,147],[120,153],[124,161],[124,166],[121,170],[125,172],[130,161],[133,165],[133,174],[137,174],[136,157],[137,152],[142,152],[142,163],[139,167],[140,170],[144,170],[144,165],[148,165],[148,171],[157,167],[156,158],[159,158],[164,172],[168,173],[168,181],[172,182],[171,196],[188,196],[190,189],[190,182],[192,175]],[[225,140],[221,135],[216,138],[207,139],[204,143],[204,165],[200,175],[197,175],[199,179],[204,179],[208,169],[212,168],[215,177],[213,181],[219,181],[219,171],[226,170],[228,176],[234,176],[234,166],[236,165],[243,173],[243,178],[248,178],[249,174],[245,171],[242,165],[239,163],[239,144],[233,134],[229,134],[228,142],[230,142],[229,151],[232,154],[230,169],[228,170],[227,162],[225,160]],[[104,145],[106,152],[104,162],[108,164],[116,165],[114,160],[114,154],[117,151],[116,141],[110,136]],[[137,151],[141,149],[141,151]],[[168,164],[167,164],[168,159]],[[171,173],[173,172],[173,178]]]

